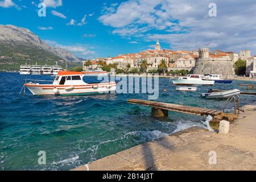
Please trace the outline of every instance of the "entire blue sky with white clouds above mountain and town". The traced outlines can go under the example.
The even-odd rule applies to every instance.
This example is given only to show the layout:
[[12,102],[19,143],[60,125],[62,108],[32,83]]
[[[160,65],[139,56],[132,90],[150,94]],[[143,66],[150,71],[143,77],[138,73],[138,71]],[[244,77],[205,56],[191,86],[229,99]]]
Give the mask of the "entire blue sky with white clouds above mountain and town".
[[[47,5],[46,17],[37,5]],[[209,3],[217,16],[208,15]],[[116,56],[153,48],[256,53],[254,0],[0,0],[0,24],[28,28],[52,46],[84,58]],[[247,44],[245,44],[245,42]]]

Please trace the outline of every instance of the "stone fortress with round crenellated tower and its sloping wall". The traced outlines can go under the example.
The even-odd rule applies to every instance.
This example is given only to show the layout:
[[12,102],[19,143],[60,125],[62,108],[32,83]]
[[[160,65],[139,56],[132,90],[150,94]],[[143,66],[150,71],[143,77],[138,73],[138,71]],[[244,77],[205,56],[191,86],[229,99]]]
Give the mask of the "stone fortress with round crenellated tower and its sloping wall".
[[217,74],[224,78],[233,78],[233,62],[212,55],[209,48],[200,48],[199,58],[196,59],[196,66],[191,73],[196,75]]

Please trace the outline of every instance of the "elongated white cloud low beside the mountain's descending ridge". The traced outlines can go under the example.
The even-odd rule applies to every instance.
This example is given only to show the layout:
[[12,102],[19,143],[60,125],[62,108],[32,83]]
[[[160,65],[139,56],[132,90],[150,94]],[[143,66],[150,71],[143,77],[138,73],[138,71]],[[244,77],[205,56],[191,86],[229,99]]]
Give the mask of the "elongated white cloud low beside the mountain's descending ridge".
[[44,40],[49,45],[57,48],[63,48],[68,50],[69,52],[72,52],[77,57],[83,57],[83,58],[92,58],[96,52],[92,51],[93,46],[84,45],[84,44],[75,44],[75,45],[62,45],[52,40]]

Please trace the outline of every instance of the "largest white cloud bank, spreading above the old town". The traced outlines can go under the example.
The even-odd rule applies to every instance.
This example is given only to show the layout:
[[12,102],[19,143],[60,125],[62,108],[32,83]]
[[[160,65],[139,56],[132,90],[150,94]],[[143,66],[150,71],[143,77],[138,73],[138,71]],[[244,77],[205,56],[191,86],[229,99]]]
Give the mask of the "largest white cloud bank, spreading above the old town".
[[211,49],[250,48],[256,53],[255,0],[216,0],[217,17],[213,18],[208,15],[211,2],[130,0],[104,7],[98,20],[113,27],[112,34],[148,42],[159,39],[172,49],[198,49],[210,43]]

